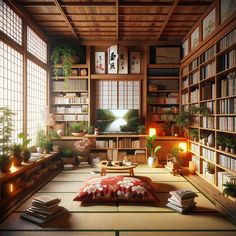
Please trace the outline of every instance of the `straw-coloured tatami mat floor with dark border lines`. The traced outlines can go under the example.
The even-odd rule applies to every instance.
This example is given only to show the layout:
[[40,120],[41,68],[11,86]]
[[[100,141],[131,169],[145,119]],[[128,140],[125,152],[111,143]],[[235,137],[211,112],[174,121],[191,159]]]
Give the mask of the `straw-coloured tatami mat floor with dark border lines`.
[[[81,206],[73,201],[83,181],[90,177],[91,168],[62,171],[31,198],[18,207],[2,224],[1,236],[175,236],[175,235],[236,235],[236,227],[215,210],[215,206],[182,176],[173,176],[161,168],[138,167],[136,175],[148,176],[160,199],[157,206],[109,204]],[[114,175],[111,173],[109,175]],[[94,175],[95,176],[95,175]],[[165,206],[169,191],[191,189],[198,194],[193,213],[181,215]],[[47,194],[61,198],[61,205],[70,214],[41,228],[20,219],[34,196]],[[69,232],[68,232],[69,231]]]

